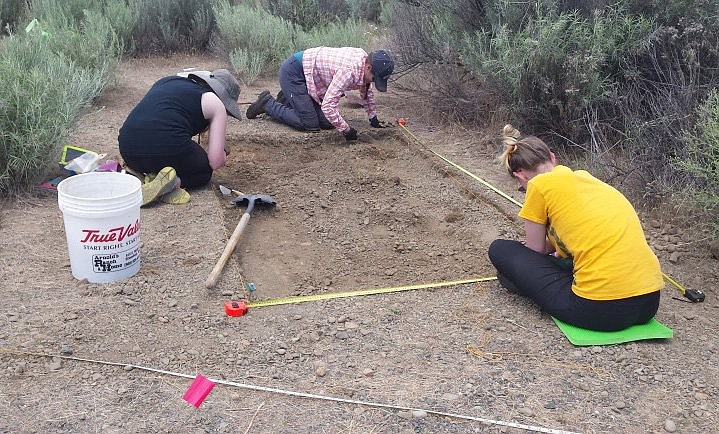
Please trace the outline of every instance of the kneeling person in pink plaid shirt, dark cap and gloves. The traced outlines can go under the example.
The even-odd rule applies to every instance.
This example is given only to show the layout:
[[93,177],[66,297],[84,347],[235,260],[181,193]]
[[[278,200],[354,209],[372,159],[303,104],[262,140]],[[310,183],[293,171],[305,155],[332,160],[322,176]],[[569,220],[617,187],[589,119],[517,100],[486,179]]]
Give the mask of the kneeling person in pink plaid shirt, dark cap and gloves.
[[359,90],[362,105],[374,128],[384,126],[377,119],[371,84],[387,91],[387,79],[394,61],[385,50],[367,54],[361,48],[317,47],[299,51],[280,66],[278,98],[263,91],[247,109],[247,118],[262,113],[299,130],[336,128],[345,138],[357,140],[357,130],[342,118],[339,100],[350,90]]

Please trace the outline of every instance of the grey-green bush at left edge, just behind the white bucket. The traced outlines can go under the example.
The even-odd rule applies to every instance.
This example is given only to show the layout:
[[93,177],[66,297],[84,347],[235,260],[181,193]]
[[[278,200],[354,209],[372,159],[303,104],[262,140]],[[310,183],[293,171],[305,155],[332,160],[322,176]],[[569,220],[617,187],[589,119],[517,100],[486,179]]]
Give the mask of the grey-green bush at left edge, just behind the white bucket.
[[79,110],[103,88],[104,71],[78,67],[40,34],[0,46],[0,195],[26,189],[57,164]]

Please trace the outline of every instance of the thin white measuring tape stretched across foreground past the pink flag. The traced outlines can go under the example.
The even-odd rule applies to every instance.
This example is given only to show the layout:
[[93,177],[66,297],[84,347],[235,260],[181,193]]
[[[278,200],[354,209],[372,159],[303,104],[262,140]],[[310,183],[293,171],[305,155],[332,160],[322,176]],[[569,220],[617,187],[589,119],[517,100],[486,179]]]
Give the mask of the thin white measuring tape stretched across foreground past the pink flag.
[[[189,379],[195,378],[194,375],[190,375],[190,374],[182,374],[179,372],[166,371],[164,369],[148,368],[146,366],[133,365],[133,364],[129,364],[129,363],[107,362],[104,360],[85,359],[82,357],[32,353],[32,352],[28,352],[28,351],[13,350],[10,348],[0,348],[0,353],[15,354],[15,355],[21,355],[21,356],[47,357],[47,358],[57,357],[60,359],[73,360],[76,362],[95,363],[95,364],[109,365],[109,366],[121,366],[123,368],[132,367],[134,369],[141,369],[143,371],[156,372],[158,374],[164,374],[164,375],[171,375],[173,377],[182,377],[182,378],[189,378]],[[323,400],[323,401],[342,402],[345,404],[357,404],[357,405],[364,405],[364,406],[368,406],[368,407],[389,408],[389,409],[395,409],[395,410],[423,411],[427,414],[434,414],[437,416],[451,417],[454,419],[472,420],[475,422],[481,422],[481,423],[488,424],[488,425],[507,426],[507,427],[518,428],[518,429],[523,429],[523,430],[527,430],[527,431],[542,432],[542,433],[549,433],[549,434],[579,434],[574,431],[566,431],[566,430],[555,429],[555,428],[546,428],[546,427],[528,425],[528,424],[518,423],[518,422],[506,422],[506,421],[502,421],[502,420],[487,419],[484,417],[477,417],[477,416],[467,416],[467,415],[458,414],[458,413],[427,410],[427,409],[416,408],[416,407],[407,407],[407,406],[402,406],[402,405],[383,404],[380,402],[358,401],[358,400],[354,400],[354,399],[337,398],[337,397],[333,397],[333,396],[315,395],[312,393],[295,392],[292,390],[284,390],[284,389],[276,389],[276,388],[272,388],[272,387],[256,386],[253,384],[237,383],[234,381],[220,380],[220,379],[214,379],[214,378],[208,378],[208,380],[212,381],[213,383],[224,384],[226,386],[238,387],[241,389],[256,390],[256,391],[268,392],[268,393],[277,393],[277,394],[287,395],[287,396],[296,396],[299,398],[319,399],[319,400]]]

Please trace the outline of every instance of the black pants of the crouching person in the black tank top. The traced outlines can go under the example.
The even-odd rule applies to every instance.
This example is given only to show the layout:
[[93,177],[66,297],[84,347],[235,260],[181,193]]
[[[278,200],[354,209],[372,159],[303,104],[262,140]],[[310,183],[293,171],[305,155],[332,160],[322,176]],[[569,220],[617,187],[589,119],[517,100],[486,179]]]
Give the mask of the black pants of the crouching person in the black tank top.
[[167,166],[174,168],[183,188],[204,187],[212,178],[207,152],[194,140],[186,143],[179,153],[143,155],[123,152],[121,147],[120,154],[125,164],[142,173],[157,173]]

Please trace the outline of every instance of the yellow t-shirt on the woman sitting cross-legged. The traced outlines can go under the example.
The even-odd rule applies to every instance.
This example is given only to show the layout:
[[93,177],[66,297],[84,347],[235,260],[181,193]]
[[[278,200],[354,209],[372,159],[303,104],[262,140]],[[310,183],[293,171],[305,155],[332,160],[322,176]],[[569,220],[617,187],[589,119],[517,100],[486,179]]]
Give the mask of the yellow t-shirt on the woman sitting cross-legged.
[[574,261],[580,297],[616,300],[664,286],[634,207],[587,171],[557,165],[535,176],[519,216],[546,225],[558,254]]

